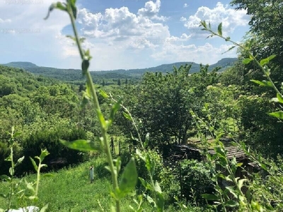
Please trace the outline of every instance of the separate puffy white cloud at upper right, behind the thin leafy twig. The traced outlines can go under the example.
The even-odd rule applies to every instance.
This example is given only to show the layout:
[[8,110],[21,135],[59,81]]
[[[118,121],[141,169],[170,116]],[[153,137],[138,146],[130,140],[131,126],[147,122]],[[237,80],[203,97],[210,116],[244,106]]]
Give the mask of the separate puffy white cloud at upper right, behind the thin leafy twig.
[[222,23],[224,33],[233,33],[236,27],[248,25],[249,17],[244,10],[236,11],[233,8],[229,8],[228,5],[224,6],[224,4],[218,2],[214,8],[201,6],[194,15],[188,18],[182,17],[180,20],[185,22],[185,27],[191,33],[200,32],[199,25],[201,20],[206,20],[207,23],[210,22],[212,27]]

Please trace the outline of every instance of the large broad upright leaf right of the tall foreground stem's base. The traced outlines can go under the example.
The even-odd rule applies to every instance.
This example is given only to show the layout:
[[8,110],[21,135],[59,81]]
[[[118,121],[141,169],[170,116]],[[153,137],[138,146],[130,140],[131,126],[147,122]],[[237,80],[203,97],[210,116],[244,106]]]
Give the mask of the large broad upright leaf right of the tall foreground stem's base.
[[119,199],[129,194],[134,190],[137,184],[137,168],[134,158],[129,160],[129,163],[126,165],[124,172],[119,183]]

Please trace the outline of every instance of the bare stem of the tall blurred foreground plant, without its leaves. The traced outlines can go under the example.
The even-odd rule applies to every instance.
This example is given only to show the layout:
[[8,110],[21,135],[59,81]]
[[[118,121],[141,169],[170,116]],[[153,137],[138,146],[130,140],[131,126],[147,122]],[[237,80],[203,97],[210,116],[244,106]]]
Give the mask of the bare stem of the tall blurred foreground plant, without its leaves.
[[[84,58],[85,55],[83,54],[83,49],[81,47],[81,42],[79,41],[79,35],[77,33],[77,30],[76,30],[74,14],[73,14],[73,11],[71,10],[71,6],[67,7],[67,12],[69,13],[69,17],[71,18],[71,25],[72,25],[72,28],[74,30],[74,35],[75,35],[75,39],[76,39],[76,45],[77,45],[77,47],[79,49],[79,53],[80,53],[81,59],[84,60],[85,59]],[[96,89],[93,86],[93,80],[91,78],[91,73],[88,70],[86,71],[86,83],[91,88],[90,90],[91,90],[91,95],[92,95],[92,102],[93,102],[94,107],[98,111],[97,112],[97,115],[98,115],[98,113],[101,112],[100,105],[99,105],[99,102],[98,102],[98,97],[96,95]],[[99,115],[98,115],[98,119],[99,119]],[[114,189],[114,192],[115,192],[115,190],[119,187],[118,179],[117,179],[117,172],[115,172],[115,167],[114,167],[114,164],[113,164],[112,155],[111,155],[109,144],[108,144],[107,130],[105,129],[105,126],[103,126],[102,122],[99,122],[99,123],[100,123],[101,134],[103,136],[103,144],[105,146],[105,153],[106,153],[107,158],[108,158],[108,163],[109,163],[109,167],[110,167],[110,171],[111,171],[111,175],[112,175],[113,189]],[[120,209],[120,201],[115,199],[115,203],[116,203],[116,211],[120,212],[121,211],[121,209]]]

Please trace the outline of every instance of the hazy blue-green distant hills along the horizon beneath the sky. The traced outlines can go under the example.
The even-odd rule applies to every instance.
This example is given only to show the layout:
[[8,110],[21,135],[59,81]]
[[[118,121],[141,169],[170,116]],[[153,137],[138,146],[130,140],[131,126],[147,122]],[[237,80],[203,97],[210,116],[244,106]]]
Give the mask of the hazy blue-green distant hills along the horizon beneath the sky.
[[[209,70],[216,68],[217,66],[221,67],[219,71],[224,71],[233,65],[238,59],[237,58],[224,58],[219,60],[216,64],[212,64],[209,66]],[[173,71],[173,66],[177,68],[185,65],[192,64],[190,69],[190,73],[196,73],[200,71],[200,64],[196,64],[190,61],[177,62],[173,64],[162,64],[160,66],[146,68],[146,69],[119,69],[112,71],[91,71],[91,75],[93,76],[93,81],[95,83],[101,82],[103,79],[118,79],[118,78],[141,78],[141,76],[146,72],[171,72]],[[37,75],[47,76],[50,78],[56,78],[61,81],[81,81],[83,78],[81,76],[81,70],[79,69],[56,69],[50,67],[42,67],[37,66],[33,63],[26,61],[13,61],[8,64],[3,64],[4,66],[11,66],[16,68],[22,68],[31,73],[35,73]]]

